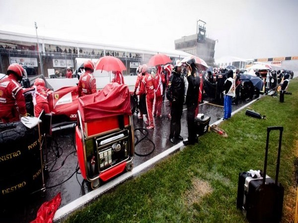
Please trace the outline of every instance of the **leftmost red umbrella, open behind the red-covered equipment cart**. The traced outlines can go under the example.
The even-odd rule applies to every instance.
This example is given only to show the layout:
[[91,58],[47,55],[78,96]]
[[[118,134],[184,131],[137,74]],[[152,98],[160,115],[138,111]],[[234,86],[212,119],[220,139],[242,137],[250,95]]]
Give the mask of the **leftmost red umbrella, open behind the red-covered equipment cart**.
[[126,70],[124,63],[114,56],[103,56],[95,64],[95,70],[120,71]]

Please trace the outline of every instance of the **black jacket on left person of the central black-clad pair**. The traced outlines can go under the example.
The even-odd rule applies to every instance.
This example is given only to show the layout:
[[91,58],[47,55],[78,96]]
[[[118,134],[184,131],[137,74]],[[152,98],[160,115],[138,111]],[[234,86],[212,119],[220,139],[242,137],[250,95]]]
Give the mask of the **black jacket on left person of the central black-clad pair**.
[[166,93],[166,98],[172,102],[173,100],[182,102],[184,101],[184,77],[173,71],[168,85],[168,91]]

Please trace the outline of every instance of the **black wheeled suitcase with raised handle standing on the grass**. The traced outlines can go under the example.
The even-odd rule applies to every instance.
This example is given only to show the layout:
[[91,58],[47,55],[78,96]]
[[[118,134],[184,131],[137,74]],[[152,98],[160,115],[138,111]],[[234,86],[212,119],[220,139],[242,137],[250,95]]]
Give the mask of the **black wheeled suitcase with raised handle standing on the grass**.
[[[269,135],[280,130],[275,180],[266,175]],[[284,187],[278,182],[283,127],[268,127],[263,177],[253,178],[241,172],[238,178],[237,208],[249,222],[279,223],[282,218]]]

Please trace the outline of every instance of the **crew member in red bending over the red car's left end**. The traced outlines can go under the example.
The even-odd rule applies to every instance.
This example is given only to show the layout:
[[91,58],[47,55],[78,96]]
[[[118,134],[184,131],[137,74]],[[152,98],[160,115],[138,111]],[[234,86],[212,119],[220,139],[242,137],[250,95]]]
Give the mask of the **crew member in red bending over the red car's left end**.
[[50,95],[52,91],[46,88],[46,83],[43,79],[36,78],[33,87],[24,92],[24,94],[27,93],[32,95],[35,117],[38,117],[42,110],[44,110],[45,113],[50,113],[48,95]]

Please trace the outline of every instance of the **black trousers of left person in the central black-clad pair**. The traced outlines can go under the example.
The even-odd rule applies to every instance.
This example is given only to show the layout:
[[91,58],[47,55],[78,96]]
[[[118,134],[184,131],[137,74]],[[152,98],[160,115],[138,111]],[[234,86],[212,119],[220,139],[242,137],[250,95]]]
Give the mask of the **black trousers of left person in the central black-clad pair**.
[[170,137],[178,138],[181,132],[181,117],[183,111],[183,101],[172,102],[171,105],[171,124],[170,124]]

